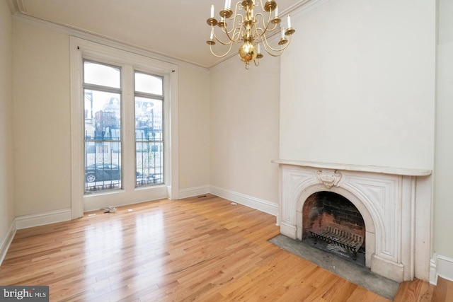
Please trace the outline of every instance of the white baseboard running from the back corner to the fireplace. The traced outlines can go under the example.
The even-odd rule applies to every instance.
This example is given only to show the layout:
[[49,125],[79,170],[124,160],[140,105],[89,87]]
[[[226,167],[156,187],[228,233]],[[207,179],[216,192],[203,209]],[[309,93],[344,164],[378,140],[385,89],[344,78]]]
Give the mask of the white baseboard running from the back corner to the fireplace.
[[278,213],[278,204],[268,202],[267,200],[258,199],[256,197],[251,197],[245,194],[225,190],[220,187],[214,186],[210,187],[210,193],[224,199],[231,200],[231,202],[243,204],[244,206],[251,207],[252,209],[257,209],[274,216],[277,216]]

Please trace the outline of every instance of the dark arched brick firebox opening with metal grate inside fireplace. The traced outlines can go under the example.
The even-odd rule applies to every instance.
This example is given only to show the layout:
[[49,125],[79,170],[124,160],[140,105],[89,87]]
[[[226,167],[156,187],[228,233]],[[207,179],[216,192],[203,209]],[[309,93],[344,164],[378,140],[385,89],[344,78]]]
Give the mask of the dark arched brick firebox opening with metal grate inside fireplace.
[[365,221],[347,198],[311,194],[302,209],[302,241],[365,266]]

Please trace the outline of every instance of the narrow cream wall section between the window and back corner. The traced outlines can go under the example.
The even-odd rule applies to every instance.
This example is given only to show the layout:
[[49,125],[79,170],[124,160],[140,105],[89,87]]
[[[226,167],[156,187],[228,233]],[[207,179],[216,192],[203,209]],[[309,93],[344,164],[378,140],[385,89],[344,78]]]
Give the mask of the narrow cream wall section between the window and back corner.
[[178,69],[179,190],[210,184],[210,75]]

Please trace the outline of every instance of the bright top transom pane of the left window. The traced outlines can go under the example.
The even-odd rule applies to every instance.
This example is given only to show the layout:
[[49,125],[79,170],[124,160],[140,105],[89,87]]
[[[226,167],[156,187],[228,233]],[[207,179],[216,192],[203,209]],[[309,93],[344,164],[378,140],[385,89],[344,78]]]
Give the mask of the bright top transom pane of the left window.
[[93,62],[84,62],[84,82],[121,88],[120,68]]

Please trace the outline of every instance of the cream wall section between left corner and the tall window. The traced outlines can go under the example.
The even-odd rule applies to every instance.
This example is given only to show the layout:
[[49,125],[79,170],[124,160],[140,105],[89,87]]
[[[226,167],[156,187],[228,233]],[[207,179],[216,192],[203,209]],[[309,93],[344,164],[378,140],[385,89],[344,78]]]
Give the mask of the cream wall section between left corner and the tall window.
[[71,207],[69,37],[14,21],[16,216]]

